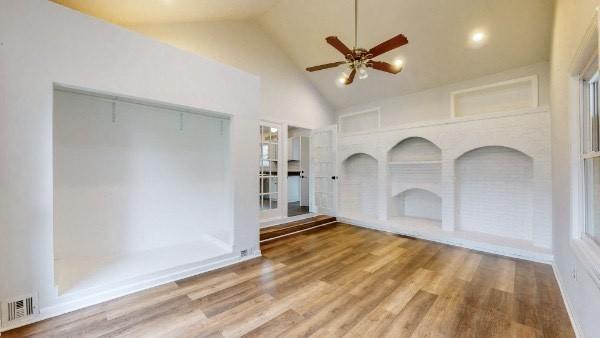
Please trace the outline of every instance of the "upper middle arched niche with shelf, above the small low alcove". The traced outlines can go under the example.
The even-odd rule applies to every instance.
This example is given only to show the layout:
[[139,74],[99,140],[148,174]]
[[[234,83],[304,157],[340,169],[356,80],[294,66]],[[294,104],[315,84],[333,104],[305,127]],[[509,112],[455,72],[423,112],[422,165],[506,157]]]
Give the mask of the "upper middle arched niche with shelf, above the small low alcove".
[[388,161],[391,163],[441,160],[441,149],[422,137],[404,139],[388,151]]

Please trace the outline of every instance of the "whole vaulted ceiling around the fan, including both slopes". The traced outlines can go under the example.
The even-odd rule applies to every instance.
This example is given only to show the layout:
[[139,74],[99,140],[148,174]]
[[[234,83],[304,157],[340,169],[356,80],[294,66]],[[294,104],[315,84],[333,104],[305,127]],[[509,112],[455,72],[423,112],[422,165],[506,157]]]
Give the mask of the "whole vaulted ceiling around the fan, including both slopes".
[[[255,19],[298,69],[343,60],[325,43],[354,44],[353,0],[56,0],[121,24]],[[398,75],[371,71],[338,88],[342,66],[308,78],[336,108],[408,94],[547,61],[553,0],[359,0],[358,46],[403,33],[409,44],[379,59],[404,61]],[[142,10],[143,9],[143,10]],[[474,47],[470,36],[487,39]]]

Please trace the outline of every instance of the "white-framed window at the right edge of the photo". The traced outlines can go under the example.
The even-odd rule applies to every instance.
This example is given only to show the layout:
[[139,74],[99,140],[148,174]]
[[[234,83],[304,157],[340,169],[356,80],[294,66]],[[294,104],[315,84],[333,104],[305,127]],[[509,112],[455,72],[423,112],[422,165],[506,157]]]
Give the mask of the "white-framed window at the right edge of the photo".
[[586,67],[581,82],[581,160],[583,161],[583,236],[600,245],[600,119],[598,59]]

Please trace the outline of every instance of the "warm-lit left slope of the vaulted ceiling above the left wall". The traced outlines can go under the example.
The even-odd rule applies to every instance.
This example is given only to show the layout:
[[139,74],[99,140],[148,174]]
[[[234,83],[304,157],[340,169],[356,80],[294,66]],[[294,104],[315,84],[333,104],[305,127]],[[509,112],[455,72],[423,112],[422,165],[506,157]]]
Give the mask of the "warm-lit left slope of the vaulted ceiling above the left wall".
[[121,25],[243,20],[279,0],[52,0]]

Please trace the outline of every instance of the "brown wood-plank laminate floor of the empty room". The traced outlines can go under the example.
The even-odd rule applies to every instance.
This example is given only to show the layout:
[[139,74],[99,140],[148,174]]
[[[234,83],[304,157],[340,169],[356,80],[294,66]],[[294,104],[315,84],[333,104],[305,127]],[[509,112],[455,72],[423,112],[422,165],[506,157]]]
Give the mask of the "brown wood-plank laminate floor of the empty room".
[[549,265],[334,224],[3,337],[573,337]]

